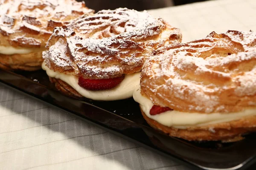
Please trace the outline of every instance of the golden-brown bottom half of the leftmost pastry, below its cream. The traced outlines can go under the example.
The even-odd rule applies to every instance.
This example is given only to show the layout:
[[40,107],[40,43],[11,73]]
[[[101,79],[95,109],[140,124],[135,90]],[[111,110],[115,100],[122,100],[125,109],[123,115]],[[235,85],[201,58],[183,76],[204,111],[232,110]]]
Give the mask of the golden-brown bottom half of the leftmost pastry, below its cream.
[[12,55],[0,54],[0,68],[4,70],[40,70],[42,62],[42,52]]

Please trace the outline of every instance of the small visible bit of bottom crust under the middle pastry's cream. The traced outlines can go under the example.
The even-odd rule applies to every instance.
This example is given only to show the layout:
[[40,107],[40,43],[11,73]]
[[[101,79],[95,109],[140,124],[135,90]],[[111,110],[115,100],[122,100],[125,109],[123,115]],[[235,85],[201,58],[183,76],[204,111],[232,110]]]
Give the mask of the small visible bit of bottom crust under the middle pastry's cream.
[[58,91],[63,92],[64,94],[67,94],[69,96],[75,96],[83,98],[84,96],[81,96],[73,87],[68,85],[66,82],[62,81],[61,79],[55,79],[52,77],[49,77],[51,83],[55,85],[55,87],[58,89]]

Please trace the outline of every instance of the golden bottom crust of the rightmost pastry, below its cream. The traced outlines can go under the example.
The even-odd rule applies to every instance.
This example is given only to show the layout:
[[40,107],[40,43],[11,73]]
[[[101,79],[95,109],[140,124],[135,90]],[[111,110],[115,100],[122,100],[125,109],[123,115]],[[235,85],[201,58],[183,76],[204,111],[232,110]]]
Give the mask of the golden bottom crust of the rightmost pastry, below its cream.
[[177,129],[168,127],[150,119],[142,111],[144,119],[148,124],[158,130],[167,133],[169,136],[186,139],[189,141],[218,141],[235,142],[242,139],[242,135],[256,131],[256,116],[249,116],[232,122],[225,122],[202,127],[189,127]]

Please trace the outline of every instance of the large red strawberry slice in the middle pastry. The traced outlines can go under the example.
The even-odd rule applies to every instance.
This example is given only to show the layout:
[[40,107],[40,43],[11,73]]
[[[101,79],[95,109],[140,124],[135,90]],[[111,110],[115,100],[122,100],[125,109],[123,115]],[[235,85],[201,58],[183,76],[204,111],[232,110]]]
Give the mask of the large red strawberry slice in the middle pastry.
[[112,79],[84,79],[83,77],[79,77],[78,84],[82,88],[90,91],[100,91],[116,87],[124,78],[125,76]]

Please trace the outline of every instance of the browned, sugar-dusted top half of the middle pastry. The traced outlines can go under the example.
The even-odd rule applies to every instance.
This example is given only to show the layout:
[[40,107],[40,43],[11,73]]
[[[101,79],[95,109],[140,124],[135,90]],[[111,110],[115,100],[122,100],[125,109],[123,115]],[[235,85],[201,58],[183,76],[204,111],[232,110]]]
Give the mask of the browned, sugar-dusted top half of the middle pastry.
[[43,55],[53,71],[108,79],[139,72],[152,51],[181,37],[179,29],[146,11],[102,10],[55,28]]

